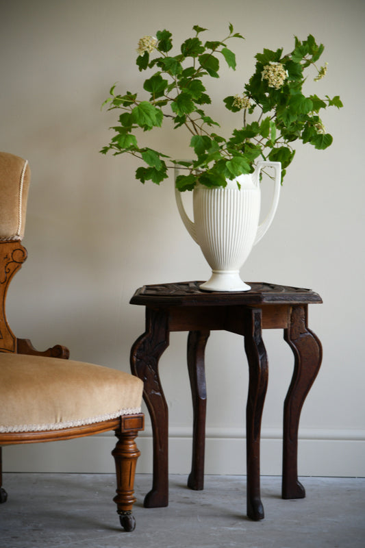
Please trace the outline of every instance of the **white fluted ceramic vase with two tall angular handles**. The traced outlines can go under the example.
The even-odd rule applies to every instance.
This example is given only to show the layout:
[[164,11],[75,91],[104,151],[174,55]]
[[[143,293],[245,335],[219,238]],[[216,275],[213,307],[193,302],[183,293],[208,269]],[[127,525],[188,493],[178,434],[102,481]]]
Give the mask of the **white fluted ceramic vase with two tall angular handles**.
[[[275,169],[273,201],[266,218],[259,224],[261,209],[260,172]],[[175,169],[175,177],[179,168]],[[237,183],[240,184],[238,188]],[[255,172],[227,181],[227,186],[193,190],[194,222],[186,214],[181,192],[175,189],[177,208],[190,236],[203,251],[212,269],[210,279],[200,288],[207,291],[248,291],[240,278],[240,268],[253,245],[264,236],[273,221],[281,185],[280,162],[257,162]]]

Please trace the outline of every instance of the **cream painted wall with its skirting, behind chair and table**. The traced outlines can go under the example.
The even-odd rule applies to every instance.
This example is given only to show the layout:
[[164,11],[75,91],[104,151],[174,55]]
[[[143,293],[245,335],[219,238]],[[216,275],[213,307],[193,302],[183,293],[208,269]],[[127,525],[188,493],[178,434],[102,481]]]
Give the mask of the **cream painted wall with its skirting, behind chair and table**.
[[[166,27],[179,43],[199,24],[215,39],[234,23],[246,41],[236,44],[236,73],[225,71],[210,87],[218,101],[240,92],[257,51],[290,48],[293,35],[312,33],[326,46],[329,70],[310,86],[318,95],[340,95],[345,106],[323,116],[334,136],[330,149],[297,150],[275,221],[242,276],[311,287],[323,297],[323,305],[310,308],[324,358],[301,417],[299,473],[364,475],[364,15],[362,0],[0,0],[0,149],[32,167],[23,241],[29,258],[8,298],[14,332],[40,349],[63,343],[75,359],[129,371],[129,349],[144,327],[144,310],[129,305],[134,290],[209,274],[178,218],[172,178],[160,187],[142,186],[134,180],[133,159],[98,153],[114,123],[114,114],[100,110],[110,86],[141,86],[134,64],[140,36]],[[222,108],[217,115],[229,127],[229,113]],[[160,140],[172,155],[188,154],[183,137],[162,134]],[[279,474],[292,355],[280,332],[265,332],[265,343],[270,383],[262,471]],[[173,334],[160,362],[171,471],[179,473],[190,464],[185,347],[186,335]],[[207,472],[243,473],[242,340],[213,333],[206,363]],[[151,471],[148,423],[139,442],[138,470],[144,472]],[[109,471],[112,443],[99,436],[10,447],[5,469]]]

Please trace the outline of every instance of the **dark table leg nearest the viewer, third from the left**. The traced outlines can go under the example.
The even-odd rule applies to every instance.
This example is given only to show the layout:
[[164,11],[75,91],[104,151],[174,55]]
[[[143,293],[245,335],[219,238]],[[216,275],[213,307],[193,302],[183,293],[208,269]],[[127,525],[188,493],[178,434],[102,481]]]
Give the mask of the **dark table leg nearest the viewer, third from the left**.
[[260,432],[262,411],[268,383],[268,360],[262,340],[262,311],[249,310],[244,332],[244,349],[249,362],[247,398],[247,516],[264,519],[260,494]]

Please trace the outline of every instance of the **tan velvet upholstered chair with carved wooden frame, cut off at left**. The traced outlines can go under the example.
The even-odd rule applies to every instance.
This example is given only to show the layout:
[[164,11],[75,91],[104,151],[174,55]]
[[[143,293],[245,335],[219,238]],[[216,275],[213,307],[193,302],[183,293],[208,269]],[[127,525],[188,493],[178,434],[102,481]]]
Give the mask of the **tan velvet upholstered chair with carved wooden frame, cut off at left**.
[[121,525],[131,531],[140,454],[135,438],[144,423],[142,381],[117,369],[68,360],[68,349],[60,345],[37,351],[13,334],[6,318],[8,286],[27,257],[21,240],[29,181],[28,162],[0,152],[0,502],[8,497],[1,481],[1,446],[114,430],[114,501]]

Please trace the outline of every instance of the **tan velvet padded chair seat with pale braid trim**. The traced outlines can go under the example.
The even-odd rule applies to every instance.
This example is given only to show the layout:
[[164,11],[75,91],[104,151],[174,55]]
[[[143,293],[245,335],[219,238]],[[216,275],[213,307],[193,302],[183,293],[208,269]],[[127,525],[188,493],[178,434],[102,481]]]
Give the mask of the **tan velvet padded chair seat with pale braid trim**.
[[42,432],[140,413],[143,383],[74,360],[0,353],[0,433]]

